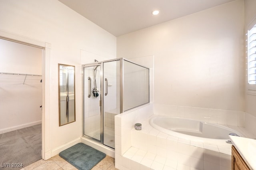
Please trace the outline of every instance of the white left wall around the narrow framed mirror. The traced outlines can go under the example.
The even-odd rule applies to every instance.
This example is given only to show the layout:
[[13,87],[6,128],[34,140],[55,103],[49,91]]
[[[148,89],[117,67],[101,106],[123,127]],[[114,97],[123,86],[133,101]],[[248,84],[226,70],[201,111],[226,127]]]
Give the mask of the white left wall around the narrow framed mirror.
[[[0,0],[0,4],[0,30],[51,44],[49,110],[53,156],[58,148],[82,136],[80,50],[115,58],[116,37],[57,0]],[[76,66],[76,122],[62,127],[58,125],[58,63]]]

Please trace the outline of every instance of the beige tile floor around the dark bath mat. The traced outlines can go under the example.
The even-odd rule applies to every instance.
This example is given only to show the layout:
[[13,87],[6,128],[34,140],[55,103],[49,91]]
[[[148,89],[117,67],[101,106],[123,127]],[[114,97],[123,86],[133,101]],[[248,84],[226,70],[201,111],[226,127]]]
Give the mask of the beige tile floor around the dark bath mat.
[[[33,164],[30,164],[20,170],[77,170],[74,166],[68,163],[66,160],[56,155],[48,160],[38,160]],[[92,170],[117,170],[115,168],[115,159],[106,156],[100,161]]]

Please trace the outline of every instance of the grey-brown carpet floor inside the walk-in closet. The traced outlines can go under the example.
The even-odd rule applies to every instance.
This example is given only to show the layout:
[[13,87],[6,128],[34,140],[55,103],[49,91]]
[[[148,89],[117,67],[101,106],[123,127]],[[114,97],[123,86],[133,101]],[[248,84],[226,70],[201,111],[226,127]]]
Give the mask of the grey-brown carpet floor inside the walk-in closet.
[[0,169],[24,168],[42,159],[41,150],[41,124],[0,134]]

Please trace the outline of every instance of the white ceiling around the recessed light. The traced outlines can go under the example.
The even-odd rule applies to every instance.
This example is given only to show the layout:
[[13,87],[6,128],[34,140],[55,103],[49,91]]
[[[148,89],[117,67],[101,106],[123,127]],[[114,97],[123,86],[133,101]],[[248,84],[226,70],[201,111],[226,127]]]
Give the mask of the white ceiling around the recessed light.
[[[114,36],[121,36],[233,0],[59,0]],[[160,14],[152,15],[159,9]]]

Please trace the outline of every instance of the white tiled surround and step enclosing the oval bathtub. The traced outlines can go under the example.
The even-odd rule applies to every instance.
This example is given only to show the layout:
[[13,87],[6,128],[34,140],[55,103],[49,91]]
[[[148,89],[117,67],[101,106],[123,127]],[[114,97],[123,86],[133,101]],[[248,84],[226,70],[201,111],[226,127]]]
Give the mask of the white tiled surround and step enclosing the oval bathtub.
[[[150,168],[162,168],[164,170],[226,170],[231,168],[230,144],[224,144],[223,146],[204,144],[159,132],[148,123],[150,117],[157,116],[152,115],[150,109],[153,109],[152,104],[136,109],[136,111],[115,116],[115,137],[119,139],[116,140],[118,141],[116,142],[115,154],[116,168],[124,170],[150,170]],[[198,115],[198,119],[202,118],[201,120],[205,119],[208,122],[211,120],[210,116],[214,115],[216,118],[212,119],[213,122],[210,123],[218,123],[222,126],[233,128],[245,137],[252,138],[254,136],[252,132],[242,127],[246,117],[243,112],[154,104],[154,111],[158,115],[161,115],[160,113],[167,113],[166,110],[168,109],[169,113],[174,113],[172,116],[178,116],[175,115],[178,113],[180,114],[179,117],[187,118],[192,118],[192,115]],[[232,114],[236,116],[228,121],[228,117]],[[240,122],[238,121],[239,117],[241,117]],[[135,130],[135,123],[142,123],[142,130]]]

